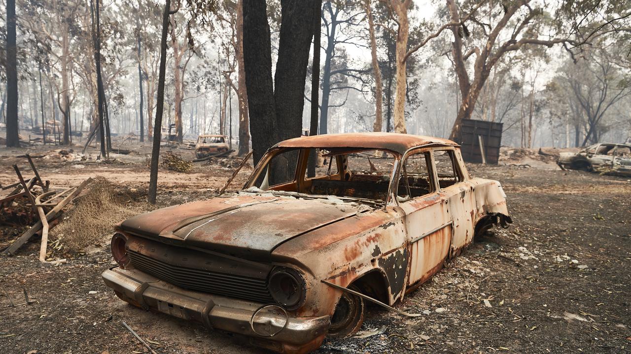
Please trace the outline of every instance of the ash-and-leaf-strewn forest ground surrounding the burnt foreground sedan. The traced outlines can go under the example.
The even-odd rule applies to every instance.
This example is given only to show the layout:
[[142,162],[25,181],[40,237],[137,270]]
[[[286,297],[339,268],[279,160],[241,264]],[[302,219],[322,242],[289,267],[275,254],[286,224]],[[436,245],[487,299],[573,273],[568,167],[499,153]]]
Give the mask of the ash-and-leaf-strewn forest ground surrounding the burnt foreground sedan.
[[[59,154],[42,146],[2,147],[0,183],[15,180],[12,164],[27,168],[18,156],[28,152],[42,156],[35,164],[55,188],[101,176],[114,189],[134,191],[119,194],[125,202],[150,208],[144,205],[148,144],[113,155],[119,161],[109,164],[97,163],[94,151],[84,159],[76,153],[80,147],[73,149]],[[192,159],[192,151],[177,151]],[[232,173],[233,161],[197,163],[187,174],[161,168],[158,205],[211,197]],[[549,161],[500,163],[469,169],[502,182],[514,224],[478,240],[396,305],[423,316],[370,307],[362,330],[378,334],[326,340],[318,353],[631,353],[631,182],[560,171]],[[239,188],[249,171],[230,189]],[[0,248],[21,231],[0,228]],[[157,353],[264,353],[198,324],[125,304],[100,279],[114,265],[107,238],[95,244],[78,253],[54,251],[68,258],[59,266],[37,260],[37,240],[16,256],[0,256],[0,353],[146,352],[122,321]],[[11,307],[25,302],[25,291],[32,304]]]

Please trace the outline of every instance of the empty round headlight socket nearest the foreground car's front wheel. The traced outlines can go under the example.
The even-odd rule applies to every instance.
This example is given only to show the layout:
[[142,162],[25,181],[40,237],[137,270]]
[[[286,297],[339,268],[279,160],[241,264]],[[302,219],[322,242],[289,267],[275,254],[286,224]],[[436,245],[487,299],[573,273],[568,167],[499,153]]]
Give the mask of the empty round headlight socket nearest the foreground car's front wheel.
[[304,303],[307,286],[302,275],[292,268],[275,268],[269,275],[269,294],[288,310]]

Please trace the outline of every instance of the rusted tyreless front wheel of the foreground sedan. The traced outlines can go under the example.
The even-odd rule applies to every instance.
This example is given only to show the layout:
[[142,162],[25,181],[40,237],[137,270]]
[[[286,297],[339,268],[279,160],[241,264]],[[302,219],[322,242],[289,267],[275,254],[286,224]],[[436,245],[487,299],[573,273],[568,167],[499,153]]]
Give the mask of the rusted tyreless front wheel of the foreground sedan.
[[[355,285],[348,287],[350,290],[359,291]],[[331,327],[328,335],[341,338],[355,334],[362,327],[366,306],[361,297],[345,292],[335,307],[331,316]]]

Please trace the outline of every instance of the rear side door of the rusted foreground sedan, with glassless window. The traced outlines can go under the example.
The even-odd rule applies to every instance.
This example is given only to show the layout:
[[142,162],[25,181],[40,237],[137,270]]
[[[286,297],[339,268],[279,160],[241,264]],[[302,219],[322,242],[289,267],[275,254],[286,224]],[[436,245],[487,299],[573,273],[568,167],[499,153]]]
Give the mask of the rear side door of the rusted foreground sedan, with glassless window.
[[453,257],[473,241],[476,211],[474,184],[464,175],[455,149],[435,149],[433,161],[440,193],[443,193],[447,200],[447,210],[451,217],[453,237],[450,255]]

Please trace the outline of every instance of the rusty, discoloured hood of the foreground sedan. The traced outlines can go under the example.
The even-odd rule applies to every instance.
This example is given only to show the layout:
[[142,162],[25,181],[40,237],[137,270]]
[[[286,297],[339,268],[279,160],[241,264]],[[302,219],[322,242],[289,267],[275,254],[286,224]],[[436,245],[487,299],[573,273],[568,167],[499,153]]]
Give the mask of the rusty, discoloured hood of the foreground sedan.
[[369,209],[336,198],[240,193],[137,215],[119,229],[165,243],[269,260],[285,241]]

